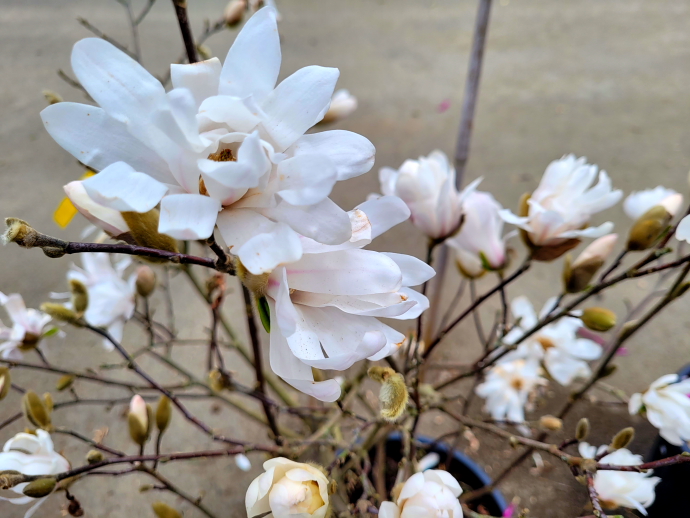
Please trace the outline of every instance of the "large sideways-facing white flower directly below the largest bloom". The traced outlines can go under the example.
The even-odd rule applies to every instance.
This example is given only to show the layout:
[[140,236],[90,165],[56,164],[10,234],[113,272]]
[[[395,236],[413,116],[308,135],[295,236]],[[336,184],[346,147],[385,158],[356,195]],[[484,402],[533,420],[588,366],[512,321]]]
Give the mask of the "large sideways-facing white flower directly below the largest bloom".
[[376,317],[417,318],[429,301],[409,287],[434,270],[415,257],[362,247],[408,217],[399,198],[366,201],[350,212],[349,241],[329,246],[302,238],[302,258],[271,273],[271,368],[278,376],[317,399],[335,401],[339,383],[315,382],[312,367],[345,370],[398,350],[405,335]]

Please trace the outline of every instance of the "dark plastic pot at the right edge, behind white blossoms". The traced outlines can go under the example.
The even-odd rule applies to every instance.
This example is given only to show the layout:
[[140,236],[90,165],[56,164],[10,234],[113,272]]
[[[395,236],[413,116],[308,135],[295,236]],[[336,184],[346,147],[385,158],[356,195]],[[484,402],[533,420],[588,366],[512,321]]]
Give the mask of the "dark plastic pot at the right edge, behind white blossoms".
[[[690,365],[686,365],[678,372],[680,379],[690,378]],[[675,446],[657,437],[648,455],[647,461],[665,459],[683,452],[690,453],[686,446]],[[649,518],[668,518],[669,516],[690,516],[690,464],[676,464],[666,468],[654,470],[654,476],[660,477],[661,482],[656,486],[654,504],[647,509]]]

